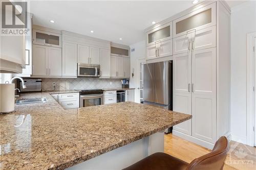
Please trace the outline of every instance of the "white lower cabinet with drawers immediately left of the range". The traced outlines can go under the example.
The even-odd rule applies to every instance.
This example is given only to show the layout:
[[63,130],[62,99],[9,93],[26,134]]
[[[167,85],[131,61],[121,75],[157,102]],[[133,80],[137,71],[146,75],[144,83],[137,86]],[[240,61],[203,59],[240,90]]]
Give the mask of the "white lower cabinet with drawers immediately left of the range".
[[64,109],[79,108],[79,93],[60,93],[51,95]]

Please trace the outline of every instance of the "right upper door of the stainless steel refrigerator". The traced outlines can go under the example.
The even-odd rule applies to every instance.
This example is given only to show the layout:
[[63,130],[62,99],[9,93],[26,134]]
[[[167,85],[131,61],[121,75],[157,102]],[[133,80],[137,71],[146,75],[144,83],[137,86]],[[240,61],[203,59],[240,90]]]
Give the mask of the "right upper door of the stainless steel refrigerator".
[[155,63],[155,85],[154,102],[162,105],[169,104],[169,85],[168,85],[168,62]]

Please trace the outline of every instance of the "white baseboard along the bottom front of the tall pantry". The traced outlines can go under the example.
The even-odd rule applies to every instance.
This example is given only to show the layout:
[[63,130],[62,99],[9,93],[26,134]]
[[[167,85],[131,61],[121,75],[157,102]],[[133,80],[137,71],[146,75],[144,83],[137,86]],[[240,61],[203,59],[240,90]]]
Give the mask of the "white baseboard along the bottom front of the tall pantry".
[[210,143],[210,142],[204,141],[202,139],[198,139],[194,136],[190,136],[190,135],[184,134],[184,133],[176,131],[176,130],[173,130],[173,135],[179,136],[179,137],[181,137],[185,140],[188,140],[188,141],[191,141],[193,143],[199,144],[202,147],[208,148],[210,150],[212,150],[212,148],[214,148],[214,143]]

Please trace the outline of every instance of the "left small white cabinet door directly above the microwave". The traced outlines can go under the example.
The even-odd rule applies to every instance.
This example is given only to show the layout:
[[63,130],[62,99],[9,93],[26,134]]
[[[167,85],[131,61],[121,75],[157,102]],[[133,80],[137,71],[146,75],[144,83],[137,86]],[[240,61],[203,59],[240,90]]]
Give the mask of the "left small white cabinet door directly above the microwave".
[[88,45],[77,45],[77,62],[90,64],[90,50]]

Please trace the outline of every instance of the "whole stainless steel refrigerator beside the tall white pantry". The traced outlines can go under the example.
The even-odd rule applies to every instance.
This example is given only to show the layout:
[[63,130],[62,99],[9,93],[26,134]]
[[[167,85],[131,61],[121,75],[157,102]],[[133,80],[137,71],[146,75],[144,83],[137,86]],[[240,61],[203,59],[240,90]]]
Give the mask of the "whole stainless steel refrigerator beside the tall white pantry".
[[173,62],[144,64],[143,103],[173,110]]

